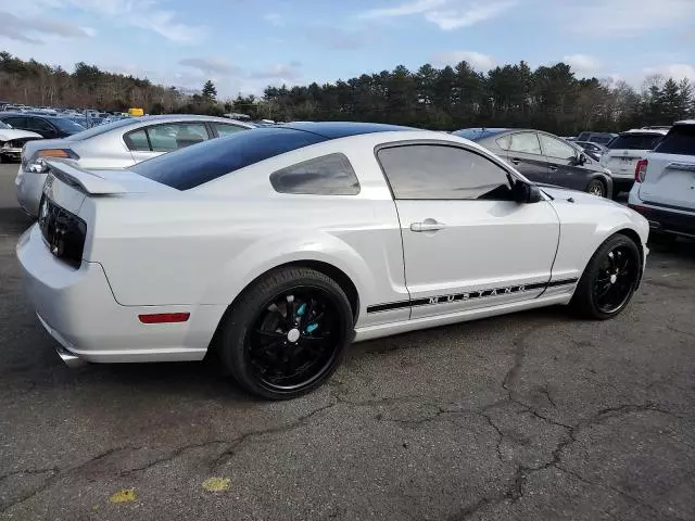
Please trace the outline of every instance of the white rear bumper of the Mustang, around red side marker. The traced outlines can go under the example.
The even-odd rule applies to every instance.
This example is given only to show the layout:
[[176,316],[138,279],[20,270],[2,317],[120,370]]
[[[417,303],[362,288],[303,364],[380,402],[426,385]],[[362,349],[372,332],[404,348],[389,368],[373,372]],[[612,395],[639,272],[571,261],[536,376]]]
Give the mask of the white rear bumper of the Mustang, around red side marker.
[[[68,365],[181,361],[205,356],[218,306],[122,306],[99,263],[71,268],[49,251],[37,225],[17,243],[24,285],[40,322]],[[146,325],[138,315],[190,313],[187,322]]]

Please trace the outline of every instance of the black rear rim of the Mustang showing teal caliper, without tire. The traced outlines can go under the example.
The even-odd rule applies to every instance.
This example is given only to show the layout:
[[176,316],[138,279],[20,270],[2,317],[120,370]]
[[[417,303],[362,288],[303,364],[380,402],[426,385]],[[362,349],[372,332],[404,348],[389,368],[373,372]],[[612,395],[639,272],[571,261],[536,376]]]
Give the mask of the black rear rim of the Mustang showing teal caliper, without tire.
[[266,387],[292,391],[319,378],[340,351],[338,305],[320,288],[298,287],[274,296],[247,334],[245,355]]

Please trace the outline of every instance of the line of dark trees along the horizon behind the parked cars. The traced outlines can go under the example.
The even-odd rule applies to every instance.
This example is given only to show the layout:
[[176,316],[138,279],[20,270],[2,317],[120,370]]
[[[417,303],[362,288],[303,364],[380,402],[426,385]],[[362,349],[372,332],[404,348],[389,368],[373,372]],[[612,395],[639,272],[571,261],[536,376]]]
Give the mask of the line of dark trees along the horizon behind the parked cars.
[[626,81],[578,78],[565,63],[535,69],[526,62],[486,73],[469,63],[363,74],[334,82],[267,87],[262,97],[217,100],[212,81],[199,92],[154,85],[84,62],[72,73],[0,52],[0,99],[30,105],[143,107],[160,113],[244,113],[254,119],[365,120],[451,130],[533,127],[559,135],[670,125],[695,114],[694,86],[654,75],[641,89]]

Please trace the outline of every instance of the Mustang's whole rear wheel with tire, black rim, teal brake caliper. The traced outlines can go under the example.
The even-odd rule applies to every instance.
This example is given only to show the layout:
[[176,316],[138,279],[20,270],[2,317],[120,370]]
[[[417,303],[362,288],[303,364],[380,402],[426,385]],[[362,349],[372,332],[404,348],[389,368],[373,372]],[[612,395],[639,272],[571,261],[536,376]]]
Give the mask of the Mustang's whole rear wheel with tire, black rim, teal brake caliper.
[[309,268],[269,272],[225,316],[219,356],[248,392],[288,399],[321,385],[353,336],[353,313],[340,285]]

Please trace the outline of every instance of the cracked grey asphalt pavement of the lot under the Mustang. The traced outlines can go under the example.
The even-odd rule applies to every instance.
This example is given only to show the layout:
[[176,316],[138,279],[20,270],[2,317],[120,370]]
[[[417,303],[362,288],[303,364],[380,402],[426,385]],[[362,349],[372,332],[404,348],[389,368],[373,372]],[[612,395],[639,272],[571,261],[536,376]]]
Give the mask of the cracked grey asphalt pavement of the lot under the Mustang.
[[0,519],[695,519],[695,244],[617,319],[548,308],[356,344],[248,397],[211,364],[68,369],[22,293],[0,165]]

